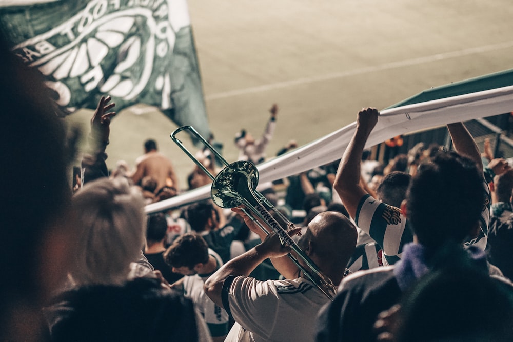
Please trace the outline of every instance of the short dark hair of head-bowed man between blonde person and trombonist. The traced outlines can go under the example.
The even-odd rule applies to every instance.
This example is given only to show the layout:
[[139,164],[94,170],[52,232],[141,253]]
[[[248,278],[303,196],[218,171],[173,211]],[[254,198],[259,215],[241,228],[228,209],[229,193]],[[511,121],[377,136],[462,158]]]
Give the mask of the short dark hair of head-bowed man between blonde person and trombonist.
[[170,267],[193,269],[196,264],[208,263],[208,245],[198,233],[185,233],[164,252],[164,261]]

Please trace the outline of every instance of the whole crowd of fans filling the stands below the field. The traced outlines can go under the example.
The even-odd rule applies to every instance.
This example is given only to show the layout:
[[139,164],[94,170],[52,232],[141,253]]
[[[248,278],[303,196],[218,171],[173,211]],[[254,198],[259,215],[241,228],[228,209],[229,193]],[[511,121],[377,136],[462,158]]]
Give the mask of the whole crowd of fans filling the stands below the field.
[[[262,191],[285,235],[211,200],[146,215],[181,191],[154,140],[109,172],[102,97],[71,187],[76,139],[41,75],[0,48],[0,340],[513,340],[513,170],[462,123],[447,125],[453,151],[418,144],[383,165],[364,149],[379,112],[362,109],[340,160]],[[277,113],[262,138],[235,137],[241,160],[265,159]]]

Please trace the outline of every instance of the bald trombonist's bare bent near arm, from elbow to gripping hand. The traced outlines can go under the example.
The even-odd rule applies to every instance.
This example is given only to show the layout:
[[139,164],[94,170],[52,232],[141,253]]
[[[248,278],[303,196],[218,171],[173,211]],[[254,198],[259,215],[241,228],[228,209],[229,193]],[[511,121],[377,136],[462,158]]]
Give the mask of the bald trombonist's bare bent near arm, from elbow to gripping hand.
[[[290,231],[289,235],[294,235],[299,230]],[[266,236],[263,242],[250,249],[246,253],[231,259],[219,270],[215,271],[207,281],[205,281],[204,290],[207,296],[220,307],[223,306],[222,292],[224,281],[229,276],[248,276],[262,261],[267,258],[283,257],[290,252],[290,248],[282,246],[280,239],[274,233]],[[225,308],[226,309],[226,308]]]

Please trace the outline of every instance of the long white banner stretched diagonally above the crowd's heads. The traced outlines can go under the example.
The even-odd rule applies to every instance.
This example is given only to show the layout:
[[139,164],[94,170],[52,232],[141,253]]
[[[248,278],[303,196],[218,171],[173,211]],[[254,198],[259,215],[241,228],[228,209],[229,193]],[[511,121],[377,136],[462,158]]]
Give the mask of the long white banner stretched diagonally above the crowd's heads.
[[[513,111],[513,86],[447,97],[381,111],[378,124],[366,147],[393,136],[455,122],[499,115]],[[356,118],[357,113],[353,114]],[[258,166],[260,183],[288,177],[342,157],[356,122],[321,139]],[[147,213],[180,207],[210,197],[210,186],[150,204]]]

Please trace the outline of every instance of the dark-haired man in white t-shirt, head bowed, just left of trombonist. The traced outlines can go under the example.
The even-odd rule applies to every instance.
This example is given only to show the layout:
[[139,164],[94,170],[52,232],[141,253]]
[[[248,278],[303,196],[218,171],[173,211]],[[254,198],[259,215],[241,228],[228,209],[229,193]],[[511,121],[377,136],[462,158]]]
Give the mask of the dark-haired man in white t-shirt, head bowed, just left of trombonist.
[[208,298],[203,290],[205,280],[223,265],[221,257],[208,248],[200,235],[186,233],[169,246],[164,259],[173,272],[184,276],[173,284],[173,288],[181,290],[192,299],[207,324],[212,340],[224,341],[229,327],[228,314]]

